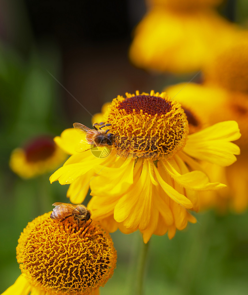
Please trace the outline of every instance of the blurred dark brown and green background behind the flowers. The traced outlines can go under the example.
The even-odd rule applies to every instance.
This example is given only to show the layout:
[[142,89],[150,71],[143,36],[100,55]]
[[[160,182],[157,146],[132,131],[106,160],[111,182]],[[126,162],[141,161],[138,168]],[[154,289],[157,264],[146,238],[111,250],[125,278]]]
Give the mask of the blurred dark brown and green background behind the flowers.
[[[229,15],[237,22],[248,23],[246,0],[229,1],[229,7],[236,7]],[[54,201],[67,201],[68,187],[51,185],[51,173],[31,180],[12,173],[11,151],[31,137],[59,135],[74,122],[90,126],[89,113],[100,112],[118,94],[161,91],[194,76],[130,65],[132,30],[145,11],[142,0],[0,1],[0,292],[20,274],[15,248],[27,222],[52,210]],[[221,11],[228,14],[226,6]],[[173,240],[151,238],[144,294],[248,293],[248,214],[209,211],[196,217],[199,223]],[[101,294],[132,294],[142,238],[138,232],[112,237],[118,263]]]

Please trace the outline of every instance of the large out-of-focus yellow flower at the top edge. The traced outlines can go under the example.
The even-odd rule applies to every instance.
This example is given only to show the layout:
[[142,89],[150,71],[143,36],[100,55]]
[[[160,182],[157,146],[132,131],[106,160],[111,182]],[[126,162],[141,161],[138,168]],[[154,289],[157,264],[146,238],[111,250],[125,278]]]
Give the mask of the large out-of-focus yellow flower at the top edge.
[[130,46],[130,60],[139,68],[173,73],[198,71],[237,30],[206,7],[219,1],[152,2]]

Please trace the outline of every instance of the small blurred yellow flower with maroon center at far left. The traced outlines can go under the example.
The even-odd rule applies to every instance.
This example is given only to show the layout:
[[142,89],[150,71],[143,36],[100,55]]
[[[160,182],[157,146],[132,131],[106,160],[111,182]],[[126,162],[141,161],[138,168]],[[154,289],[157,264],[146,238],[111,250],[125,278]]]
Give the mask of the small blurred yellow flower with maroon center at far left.
[[22,178],[32,178],[58,167],[67,154],[59,148],[51,137],[37,137],[24,148],[16,148],[10,155],[12,171]]

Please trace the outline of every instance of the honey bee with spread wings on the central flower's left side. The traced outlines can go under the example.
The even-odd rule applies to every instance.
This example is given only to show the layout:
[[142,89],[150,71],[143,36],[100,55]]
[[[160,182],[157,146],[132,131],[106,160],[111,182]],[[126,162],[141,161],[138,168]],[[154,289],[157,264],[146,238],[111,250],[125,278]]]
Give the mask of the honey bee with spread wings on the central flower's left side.
[[[100,126],[99,129],[96,128],[96,126]],[[90,129],[86,127],[83,124],[80,123],[74,123],[73,127],[80,133],[85,134],[86,133],[86,142],[84,140],[81,140],[81,147],[78,150],[79,152],[83,152],[85,149],[82,144],[86,143],[88,145],[93,145],[93,147],[104,147],[106,145],[113,145],[114,142],[114,135],[112,133],[108,133],[109,129],[102,130],[103,127],[108,127],[111,124],[104,124],[104,122],[101,123],[95,123],[93,124],[94,129]]]

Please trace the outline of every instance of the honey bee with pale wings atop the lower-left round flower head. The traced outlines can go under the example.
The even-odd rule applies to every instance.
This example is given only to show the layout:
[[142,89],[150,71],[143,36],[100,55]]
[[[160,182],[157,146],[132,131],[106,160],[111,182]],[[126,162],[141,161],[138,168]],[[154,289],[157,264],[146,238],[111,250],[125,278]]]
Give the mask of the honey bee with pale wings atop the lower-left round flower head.
[[75,221],[77,221],[77,224],[79,224],[80,221],[83,220],[85,221],[84,223],[86,223],[87,220],[91,219],[90,211],[84,205],[74,205],[57,202],[53,203],[52,206],[55,206],[50,215],[52,219],[60,219],[60,221],[64,221],[66,218],[74,215],[74,219]]

